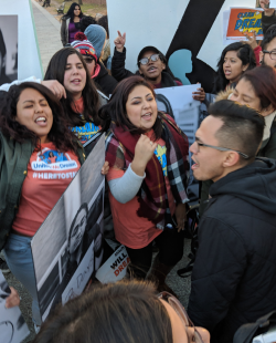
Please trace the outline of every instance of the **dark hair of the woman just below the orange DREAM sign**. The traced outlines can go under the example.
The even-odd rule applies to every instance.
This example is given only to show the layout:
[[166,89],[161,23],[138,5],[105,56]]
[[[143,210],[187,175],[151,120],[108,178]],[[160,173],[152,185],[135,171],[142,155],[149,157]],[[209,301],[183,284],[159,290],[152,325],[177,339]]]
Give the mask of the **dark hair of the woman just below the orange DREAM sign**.
[[248,44],[236,42],[227,45],[223,50],[217,63],[217,71],[216,76],[214,79],[214,87],[212,92],[213,94],[216,94],[220,91],[224,91],[226,85],[229,84],[229,80],[225,77],[223,72],[224,58],[229,51],[236,51],[237,58],[242,61],[243,65],[248,64],[247,70],[251,70],[256,66],[256,58],[254,54],[254,50]]

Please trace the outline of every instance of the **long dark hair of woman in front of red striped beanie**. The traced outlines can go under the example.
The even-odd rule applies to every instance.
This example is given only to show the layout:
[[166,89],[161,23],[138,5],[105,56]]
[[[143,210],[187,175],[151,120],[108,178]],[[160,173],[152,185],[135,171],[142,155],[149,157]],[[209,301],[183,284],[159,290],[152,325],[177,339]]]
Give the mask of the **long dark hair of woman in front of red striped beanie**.
[[83,118],[81,117],[81,113],[76,113],[74,111],[75,106],[72,106],[74,104],[74,100],[67,90],[67,97],[61,100],[64,112],[67,115],[70,126],[83,126],[85,122],[93,122],[95,125],[100,125],[100,119],[98,117],[98,93],[93,81],[91,80],[91,75],[83,56],[77,50],[74,48],[63,48],[59,50],[47,65],[44,80],[57,80],[62,85],[64,85],[64,73],[67,64],[67,58],[72,54],[76,54],[78,56],[86,71],[86,84],[82,92],[84,101],[84,112],[82,113]]

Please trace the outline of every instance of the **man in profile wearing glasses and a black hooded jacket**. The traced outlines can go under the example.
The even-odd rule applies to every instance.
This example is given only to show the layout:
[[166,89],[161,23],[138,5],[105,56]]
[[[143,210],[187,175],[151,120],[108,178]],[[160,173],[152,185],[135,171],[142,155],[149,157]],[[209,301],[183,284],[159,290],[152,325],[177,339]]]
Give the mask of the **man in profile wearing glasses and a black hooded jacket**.
[[209,110],[190,147],[194,177],[214,184],[188,313],[212,342],[229,343],[242,324],[275,310],[276,162],[255,157],[265,126],[258,112],[227,100]]

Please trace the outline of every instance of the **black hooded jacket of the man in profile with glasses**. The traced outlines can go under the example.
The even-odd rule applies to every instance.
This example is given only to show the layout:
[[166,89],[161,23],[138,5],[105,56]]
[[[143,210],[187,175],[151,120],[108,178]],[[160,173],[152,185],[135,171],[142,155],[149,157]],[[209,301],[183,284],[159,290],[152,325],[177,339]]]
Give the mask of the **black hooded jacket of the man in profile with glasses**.
[[233,342],[245,323],[276,310],[276,160],[256,160],[210,188],[199,226],[188,313]]

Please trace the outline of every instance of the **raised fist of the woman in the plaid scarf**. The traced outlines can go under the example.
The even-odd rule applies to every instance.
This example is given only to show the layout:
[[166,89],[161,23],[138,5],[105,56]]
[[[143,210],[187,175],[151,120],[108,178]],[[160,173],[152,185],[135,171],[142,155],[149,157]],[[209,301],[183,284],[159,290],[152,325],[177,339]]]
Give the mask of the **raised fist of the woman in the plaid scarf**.
[[148,162],[153,156],[157,143],[153,143],[149,137],[141,135],[135,147],[135,157],[131,163],[131,169],[135,174],[144,176]]

